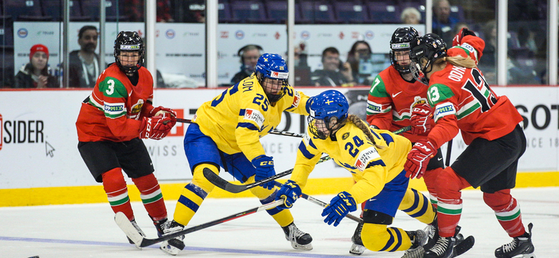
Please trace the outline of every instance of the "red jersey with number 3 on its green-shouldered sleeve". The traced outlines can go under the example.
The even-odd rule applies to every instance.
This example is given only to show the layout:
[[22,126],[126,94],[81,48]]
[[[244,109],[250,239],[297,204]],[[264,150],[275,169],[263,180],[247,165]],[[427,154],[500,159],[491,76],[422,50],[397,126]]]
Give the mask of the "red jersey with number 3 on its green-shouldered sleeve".
[[125,142],[140,136],[143,111],[153,100],[153,79],[144,67],[138,77],[134,86],[116,63],[99,75],[75,123],[80,142]]

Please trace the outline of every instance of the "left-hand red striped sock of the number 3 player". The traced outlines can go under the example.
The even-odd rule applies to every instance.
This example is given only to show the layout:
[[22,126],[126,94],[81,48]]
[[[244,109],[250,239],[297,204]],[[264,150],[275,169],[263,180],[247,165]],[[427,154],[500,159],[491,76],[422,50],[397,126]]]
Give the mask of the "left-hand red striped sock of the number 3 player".
[[128,197],[128,188],[126,188],[126,181],[122,176],[122,170],[117,167],[110,169],[108,172],[103,173],[103,188],[107,193],[110,208],[115,213],[121,211],[126,215],[129,220],[134,219],[132,206]]

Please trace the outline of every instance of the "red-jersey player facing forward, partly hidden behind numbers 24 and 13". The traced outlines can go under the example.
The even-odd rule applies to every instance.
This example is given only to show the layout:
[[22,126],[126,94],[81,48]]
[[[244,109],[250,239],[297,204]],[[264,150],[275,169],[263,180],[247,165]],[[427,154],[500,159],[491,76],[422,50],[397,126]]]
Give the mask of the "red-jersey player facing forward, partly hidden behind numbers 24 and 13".
[[[418,37],[419,33],[413,27],[398,28],[394,31],[390,40],[392,65],[375,77],[367,101],[367,122],[370,126],[391,131],[412,126],[412,130],[402,133],[402,136],[409,139],[412,144],[426,137],[430,128],[435,125],[435,121],[430,116],[431,107],[427,103],[428,86],[416,81],[409,70],[409,65],[412,63],[409,60],[409,44]],[[443,168],[442,153],[438,149],[423,175],[433,208],[437,208],[435,178]],[[405,196],[402,203],[413,202],[413,196]],[[413,214],[409,215],[413,216]],[[362,225],[358,225],[351,238],[353,245],[349,252],[354,255],[361,255],[365,250],[359,239],[361,227]],[[431,223],[428,229],[434,232],[434,223]]]

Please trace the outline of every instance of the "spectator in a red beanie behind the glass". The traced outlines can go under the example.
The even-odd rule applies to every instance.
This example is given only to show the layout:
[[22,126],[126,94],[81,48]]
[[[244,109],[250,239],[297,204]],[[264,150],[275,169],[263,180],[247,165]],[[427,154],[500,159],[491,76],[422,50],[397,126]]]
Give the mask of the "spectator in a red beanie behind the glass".
[[48,66],[48,48],[37,44],[31,47],[29,63],[15,75],[14,88],[58,88],[58,80]]

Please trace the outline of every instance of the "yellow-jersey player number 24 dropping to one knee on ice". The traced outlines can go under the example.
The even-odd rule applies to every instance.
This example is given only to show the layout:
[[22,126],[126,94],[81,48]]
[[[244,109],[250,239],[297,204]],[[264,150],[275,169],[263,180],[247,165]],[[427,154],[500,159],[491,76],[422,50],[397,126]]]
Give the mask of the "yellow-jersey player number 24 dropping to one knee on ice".
[[388,130],[368,128],[358,116],[347,113],[348,107],[339,91],[324,91],[312,99],[307,135],[299,145],[293,174],[276,195],[276,199],[285,198],[279,208],[293,206],[321,154],[327,153],[351,172],[356,183],[324,208],[324,222],[337,226],[365,202],[361,232],[365,248],[375,252],[406,250],[405,257],[412,257],[412,253],[423,251],[426,232],[387,227],[398,209],[426,224],[435,220],[427,197],[408,188],[404,163],[412,144]]

